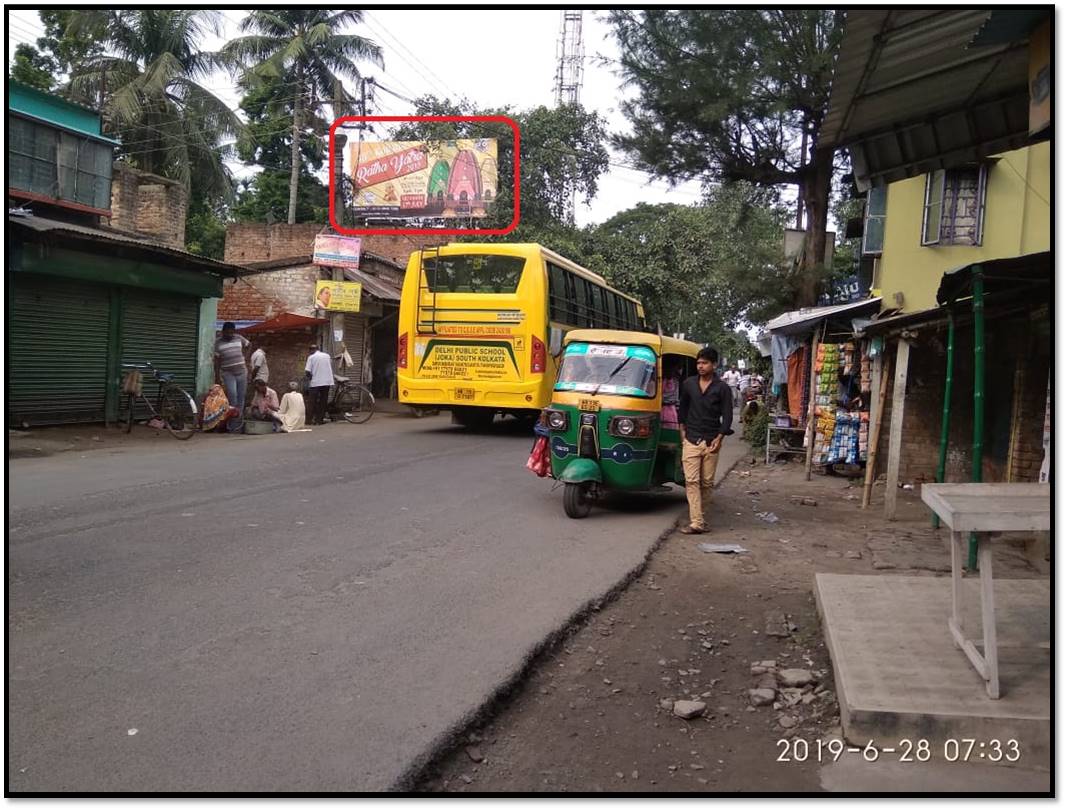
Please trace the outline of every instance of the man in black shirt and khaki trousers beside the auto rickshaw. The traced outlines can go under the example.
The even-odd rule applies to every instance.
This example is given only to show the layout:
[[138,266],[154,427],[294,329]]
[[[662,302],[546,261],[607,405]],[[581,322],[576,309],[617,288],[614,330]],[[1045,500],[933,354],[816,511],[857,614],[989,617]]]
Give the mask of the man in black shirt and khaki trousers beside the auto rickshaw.
[[689,499],[689,525],[681,534],[708,532],[704,509],[714,486],[722,440],[732,435],[732,394],[715,374],[718,353],[704,346],[696,355],[696,376],[681,384],[681,466]]

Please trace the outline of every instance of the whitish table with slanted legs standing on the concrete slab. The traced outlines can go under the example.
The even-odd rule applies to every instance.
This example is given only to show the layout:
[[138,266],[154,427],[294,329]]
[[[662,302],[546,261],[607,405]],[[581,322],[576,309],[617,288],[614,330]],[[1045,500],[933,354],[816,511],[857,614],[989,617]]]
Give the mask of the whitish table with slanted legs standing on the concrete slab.
[[[1051,530],[1051,488],[1047,484],[924,484],[922,501],[951,530],[951,618],[948,627],[985,680],[988,697],[999,698],[999,654],[996,647],[996,601],[992,595],[992,549],[988,532]],[[981,571],[981,625],[984,655],[963,634],[962,562],[966,536],[978,537]]]

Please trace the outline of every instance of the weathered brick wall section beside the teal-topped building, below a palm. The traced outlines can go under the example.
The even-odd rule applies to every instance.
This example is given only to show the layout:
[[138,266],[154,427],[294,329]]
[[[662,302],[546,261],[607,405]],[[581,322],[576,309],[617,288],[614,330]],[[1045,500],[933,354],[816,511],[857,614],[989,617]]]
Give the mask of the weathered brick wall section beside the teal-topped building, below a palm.
[[184,249],[188,204],[188,193],[181,183],[141,172],[125,163],[114,164],[112,227]]

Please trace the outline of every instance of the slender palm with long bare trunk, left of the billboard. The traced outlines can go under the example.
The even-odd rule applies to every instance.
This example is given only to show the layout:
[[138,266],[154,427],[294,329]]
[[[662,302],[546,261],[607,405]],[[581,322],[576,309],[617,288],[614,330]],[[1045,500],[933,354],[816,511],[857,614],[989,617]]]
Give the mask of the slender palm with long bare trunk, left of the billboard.
[[352,104],[342,79],[361,78],[357,60],[383,65],[382,49],[357,34],[340,29],[362,21],[355,10],[325,11],[307,7],[252,11],[241,22],[245,36],[228,43],[222,54],[243,71],[242,81],[265,78],[291,79],[292,174],[289,180],[289,224],[296,222],[296,191],[300,183],[300,136],[305,110],[329,103],[335,115]]

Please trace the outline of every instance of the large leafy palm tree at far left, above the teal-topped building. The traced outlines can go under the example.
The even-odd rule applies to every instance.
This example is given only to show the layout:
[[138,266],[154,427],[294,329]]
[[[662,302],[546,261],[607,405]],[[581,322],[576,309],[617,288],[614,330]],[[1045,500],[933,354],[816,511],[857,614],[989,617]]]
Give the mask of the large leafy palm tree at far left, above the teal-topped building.
[[240,118],[200,82],[216,68],[199,50],[221,32],[217,12],[127,9],[77,11],[71,32],[96,37],[103,55],[77,66],[69,91],[100,100],[106,131],[138,168],[180,180],[212,198],[232,193],[220,142],[240,133]]

